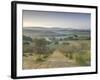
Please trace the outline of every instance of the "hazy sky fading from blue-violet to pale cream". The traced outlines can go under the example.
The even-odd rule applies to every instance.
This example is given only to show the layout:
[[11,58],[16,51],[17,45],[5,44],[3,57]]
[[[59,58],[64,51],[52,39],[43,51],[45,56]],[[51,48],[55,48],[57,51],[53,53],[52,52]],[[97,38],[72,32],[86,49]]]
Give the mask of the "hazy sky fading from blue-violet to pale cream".
[[90,29],[91,14],[23,10],[23,27]]

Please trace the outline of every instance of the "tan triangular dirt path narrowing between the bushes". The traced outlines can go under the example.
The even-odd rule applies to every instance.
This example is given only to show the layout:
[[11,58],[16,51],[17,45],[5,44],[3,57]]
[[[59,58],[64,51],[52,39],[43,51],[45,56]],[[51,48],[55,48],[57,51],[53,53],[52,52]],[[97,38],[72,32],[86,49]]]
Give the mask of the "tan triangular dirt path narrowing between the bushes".
[[73,61],[67,59],[62,53],[59,51],[55,51],[47,61],[43,62],[37,68],[61,68],[61,67],[70,67],[73,66]]

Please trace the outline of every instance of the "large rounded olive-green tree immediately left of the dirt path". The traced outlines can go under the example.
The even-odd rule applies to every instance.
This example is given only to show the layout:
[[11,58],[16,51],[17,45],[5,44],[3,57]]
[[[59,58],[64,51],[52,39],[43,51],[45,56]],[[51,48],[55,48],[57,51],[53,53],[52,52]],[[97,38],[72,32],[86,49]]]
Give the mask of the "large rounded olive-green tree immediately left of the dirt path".
[[33,52],[38,55],[36,61],[44,61],[54,51],[45,39],[35,39],[33,43]]

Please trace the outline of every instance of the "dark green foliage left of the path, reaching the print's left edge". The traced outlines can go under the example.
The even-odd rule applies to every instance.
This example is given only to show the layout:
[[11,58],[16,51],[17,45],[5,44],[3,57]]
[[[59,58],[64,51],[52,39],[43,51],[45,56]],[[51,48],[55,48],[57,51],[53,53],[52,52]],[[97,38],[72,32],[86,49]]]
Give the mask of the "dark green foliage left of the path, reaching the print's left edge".
[[33,39],[32,42],[23,44],[23,56],[37,55],[36,61],[44,61],[54,51],[49,45],[50,43],[44,38]]

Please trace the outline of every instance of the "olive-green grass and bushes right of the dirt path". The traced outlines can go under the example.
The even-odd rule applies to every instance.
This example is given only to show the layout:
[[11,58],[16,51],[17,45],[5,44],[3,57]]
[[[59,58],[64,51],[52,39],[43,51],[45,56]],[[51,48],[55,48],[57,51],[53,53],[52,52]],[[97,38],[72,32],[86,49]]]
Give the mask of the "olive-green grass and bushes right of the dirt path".
[[76,61],[77,66],[90,66],[90,40],[67,41],[59,47],[66,58]]

